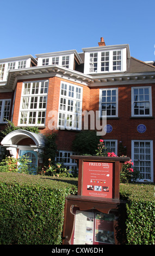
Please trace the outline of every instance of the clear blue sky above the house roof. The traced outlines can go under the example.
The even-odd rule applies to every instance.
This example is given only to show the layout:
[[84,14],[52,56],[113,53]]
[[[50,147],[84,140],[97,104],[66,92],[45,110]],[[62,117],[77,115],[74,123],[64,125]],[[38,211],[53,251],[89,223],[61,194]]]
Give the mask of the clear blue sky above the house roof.
[[155,60],[154,0],[1,1],[0,58],[129,44],[131,56]]

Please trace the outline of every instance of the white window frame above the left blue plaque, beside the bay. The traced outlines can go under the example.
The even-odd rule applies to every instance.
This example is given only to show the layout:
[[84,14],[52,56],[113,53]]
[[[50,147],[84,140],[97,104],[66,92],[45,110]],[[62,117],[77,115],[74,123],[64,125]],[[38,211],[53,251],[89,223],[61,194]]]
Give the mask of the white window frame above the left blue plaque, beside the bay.
[[[115,115],[104,115],[104,114],[102,114],[102,92],[103,91],[106,91],[106,97],[107,97],[107,91],[108,90],[116,90],[116,114]],[[118,112],[119,112],[119,110],[118,110],[118,108],[119,108],[119,89],[118,88],[101,88],[100,89],[100,99],[99,99],[99,113],[100,113],[100,118],[101,117],[109,117],[109,118],[115,118],[115,117],[118,117]],[[108,104],[108,103],[114,103],[114,102],[112,102],[112,101],[110,101],[110,102],[106,102],[106,105]],[[111,108],[110,108],[111,109]],[[103,110],[104,111],[104,110]],[[104,111],[105,112],[105,111]]]

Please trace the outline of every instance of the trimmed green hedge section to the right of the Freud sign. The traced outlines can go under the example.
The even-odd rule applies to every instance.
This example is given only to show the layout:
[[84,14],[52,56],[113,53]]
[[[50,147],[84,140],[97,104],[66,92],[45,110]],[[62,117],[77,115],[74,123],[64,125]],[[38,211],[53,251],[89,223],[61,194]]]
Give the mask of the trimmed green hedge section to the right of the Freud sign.
[[127,199],[126,235],[128,244],[154,245],[154,185],[120,184],[120,196],[122,199]]

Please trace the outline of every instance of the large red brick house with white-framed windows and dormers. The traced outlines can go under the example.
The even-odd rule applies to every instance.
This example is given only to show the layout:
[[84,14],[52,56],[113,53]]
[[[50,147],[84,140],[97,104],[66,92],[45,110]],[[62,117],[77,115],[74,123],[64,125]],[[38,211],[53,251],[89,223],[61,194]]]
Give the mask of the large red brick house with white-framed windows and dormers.
[[[103,131],[109,151],[119,154],[123,144],[141,181],[154,182],[154,83],[154,62],[131,57],[127,44],[106,46],[103,38],[81,53],[0,59],[0,127],[4,129],[7,119],[21,127],[2,140],[1,150],[7,148],[14,157],[29,153],[38,164],[44,135],[57,132],[59,157],[73,168],[72,141],[77,132],[91,129],[84,123],[88,113],[95,117],[95,130]],[[96,125],[100,120],[102,129]],[[24,131],[23,126],[38,126],[40,133]]]

